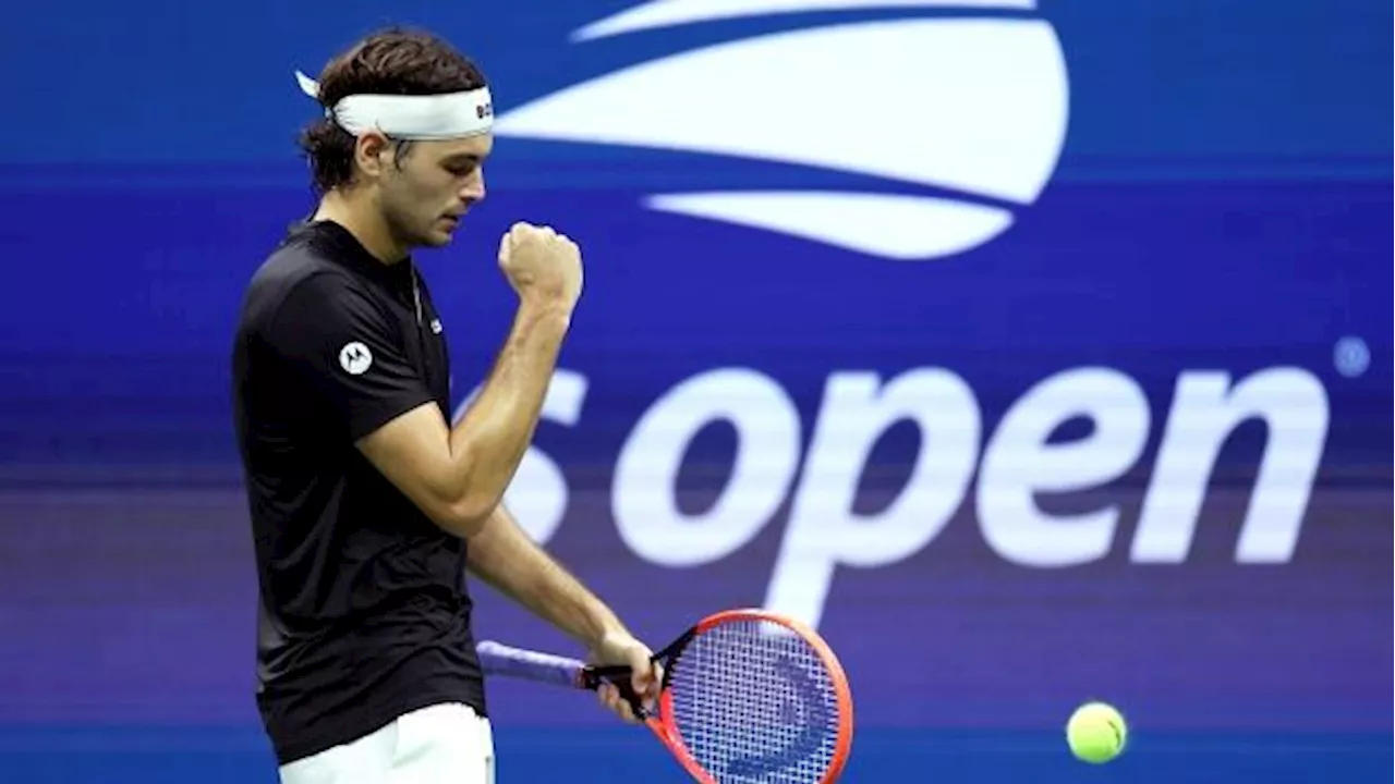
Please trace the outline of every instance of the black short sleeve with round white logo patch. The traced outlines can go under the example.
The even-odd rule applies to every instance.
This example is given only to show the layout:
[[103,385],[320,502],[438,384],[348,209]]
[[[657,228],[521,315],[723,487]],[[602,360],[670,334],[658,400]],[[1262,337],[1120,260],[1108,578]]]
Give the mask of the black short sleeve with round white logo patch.
[[265,340],[328,398],[353,441],[434,400],[392,315],[343,275],[321,272],[296,283]]

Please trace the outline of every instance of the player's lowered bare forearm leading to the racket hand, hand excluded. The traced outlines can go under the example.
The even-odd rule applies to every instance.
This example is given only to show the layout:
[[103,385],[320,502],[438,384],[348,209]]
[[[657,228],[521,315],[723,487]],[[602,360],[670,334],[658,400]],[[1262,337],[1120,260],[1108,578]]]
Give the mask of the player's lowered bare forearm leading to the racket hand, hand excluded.
[[611,608],[534,544],[502,505],[470,538],[469,568],[587,647],[608,633],[625,632]]

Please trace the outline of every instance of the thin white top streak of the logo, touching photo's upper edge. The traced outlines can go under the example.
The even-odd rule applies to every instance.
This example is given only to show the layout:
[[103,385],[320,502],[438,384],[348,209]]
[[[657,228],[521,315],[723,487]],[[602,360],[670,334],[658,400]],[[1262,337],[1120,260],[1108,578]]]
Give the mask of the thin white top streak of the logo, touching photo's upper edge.
[[591,22],[572,33],[572,40],[591,40],[638,32],[739,17],[766,17],[808,11],[877,8],[1004,8],[1031,11],[1036,0],[654,0]]

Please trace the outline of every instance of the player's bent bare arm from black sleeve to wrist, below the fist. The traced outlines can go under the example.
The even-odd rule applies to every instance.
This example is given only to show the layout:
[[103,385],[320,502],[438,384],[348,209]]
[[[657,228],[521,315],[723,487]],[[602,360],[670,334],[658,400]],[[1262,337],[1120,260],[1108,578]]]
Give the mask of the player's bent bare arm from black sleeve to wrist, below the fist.
[[453,428],[434,403],[359,441],[359,449],[442,529],[481,532],[537,428],[566,333],[564,307],[522,306],[494,370]]

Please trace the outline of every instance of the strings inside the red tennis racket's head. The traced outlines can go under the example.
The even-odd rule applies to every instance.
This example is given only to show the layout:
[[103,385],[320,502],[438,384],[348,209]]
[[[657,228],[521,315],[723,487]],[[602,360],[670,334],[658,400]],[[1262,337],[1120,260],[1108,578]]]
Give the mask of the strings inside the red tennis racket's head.
[[674,663],[674,724],[718,784],[817,784],[833,763],[838,702],[817,651],[767,621],[700,635]]

